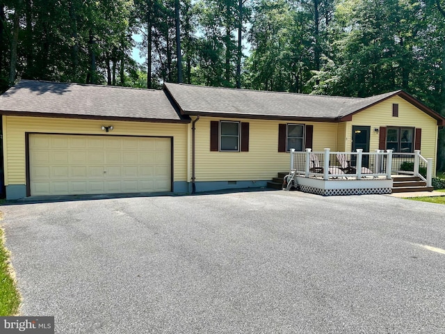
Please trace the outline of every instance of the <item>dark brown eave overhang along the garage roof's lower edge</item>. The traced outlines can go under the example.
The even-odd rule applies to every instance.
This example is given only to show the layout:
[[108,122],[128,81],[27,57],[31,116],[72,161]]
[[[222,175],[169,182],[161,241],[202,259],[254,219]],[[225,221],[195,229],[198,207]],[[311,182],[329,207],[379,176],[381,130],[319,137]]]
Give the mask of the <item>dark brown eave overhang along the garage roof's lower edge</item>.
[[47,117],[47,118],[70,118],[81,120],[115,120],[125,122],[154,122],[154,123],[190,123],[191,119],[184,116],[182,120],[164,119],[164,118],[136,118],[136,117],[120,117],[120,116],[99,116],[99,115],[81,115],[67,113],[39,113],[30,111],[7,111],[0,110],[0,115],[5,116],[28,116],[28,117]]

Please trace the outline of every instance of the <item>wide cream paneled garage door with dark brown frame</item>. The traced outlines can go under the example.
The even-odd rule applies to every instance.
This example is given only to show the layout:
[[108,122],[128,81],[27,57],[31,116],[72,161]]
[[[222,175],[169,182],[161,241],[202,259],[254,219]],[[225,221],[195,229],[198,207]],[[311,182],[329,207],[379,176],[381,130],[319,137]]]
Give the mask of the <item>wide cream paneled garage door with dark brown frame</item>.
[[171,139],[29,135],[31,196],[171,191]]

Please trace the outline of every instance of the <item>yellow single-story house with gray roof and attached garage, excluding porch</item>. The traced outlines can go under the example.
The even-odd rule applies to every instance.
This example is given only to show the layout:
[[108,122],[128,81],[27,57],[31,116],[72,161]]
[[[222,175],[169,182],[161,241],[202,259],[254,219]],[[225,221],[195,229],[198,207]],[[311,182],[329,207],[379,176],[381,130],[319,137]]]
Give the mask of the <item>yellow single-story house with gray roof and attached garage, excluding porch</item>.
[[289,150],[421,150],[445,118],[402,90],[367,98],[22,80],[0,96],[6,198],[266,186]]

